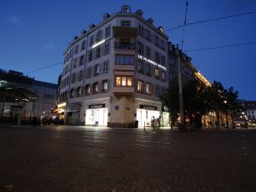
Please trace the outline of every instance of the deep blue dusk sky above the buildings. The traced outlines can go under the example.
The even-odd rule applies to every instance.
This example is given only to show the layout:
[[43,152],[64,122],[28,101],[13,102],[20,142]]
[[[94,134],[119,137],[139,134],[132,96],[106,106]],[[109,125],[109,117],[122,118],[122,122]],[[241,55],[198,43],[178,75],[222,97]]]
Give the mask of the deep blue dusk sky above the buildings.
[[[164,29],[183,24],[186,0],[2,0],[0,6],[0,68],[26,73],[56,83],[63,51],[73,36],[90,23],[99,23],[104,13],[112,15],[122,5],[142,9],[154,26]],[[256,0],[190,0],[188,22],[208,20],[256,10]],[[81,13],[82,12],[82,13]],[[168,31],[172,44],[181,44],[183,29]],[[226,44],[256,42],[256,14],[216,20],[185,27],[183,50]],[[188,52],[195,67],[210,81],[233,86],[241,99],[256,100],[256,44]]]

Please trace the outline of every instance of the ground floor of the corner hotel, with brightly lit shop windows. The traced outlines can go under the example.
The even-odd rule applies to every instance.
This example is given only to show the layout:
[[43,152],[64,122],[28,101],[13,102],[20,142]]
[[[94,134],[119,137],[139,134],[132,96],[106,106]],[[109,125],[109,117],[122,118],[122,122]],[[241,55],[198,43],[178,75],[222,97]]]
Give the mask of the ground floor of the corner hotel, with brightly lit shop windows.
[[[68,107],[69,106],[69,107]],[[162,111],[161,102],[134,96],[110,96],[84,100],[81,105],[67,105],[66,124],[109,127],[150,126],[160,117],[161,126],[170,126],[169,113]]]

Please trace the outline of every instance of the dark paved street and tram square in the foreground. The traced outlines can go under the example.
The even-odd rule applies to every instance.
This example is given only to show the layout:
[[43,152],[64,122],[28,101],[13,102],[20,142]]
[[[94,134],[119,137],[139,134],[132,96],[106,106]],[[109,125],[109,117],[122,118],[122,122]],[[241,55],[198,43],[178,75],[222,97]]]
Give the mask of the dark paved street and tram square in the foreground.
[[0,191],[256,191],[256,130],[0,128]]

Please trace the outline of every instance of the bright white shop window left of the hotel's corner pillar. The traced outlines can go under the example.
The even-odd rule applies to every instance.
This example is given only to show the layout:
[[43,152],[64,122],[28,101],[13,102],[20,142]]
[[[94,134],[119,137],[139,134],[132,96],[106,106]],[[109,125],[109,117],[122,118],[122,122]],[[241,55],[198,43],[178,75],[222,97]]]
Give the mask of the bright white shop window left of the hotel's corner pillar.
[[105,104],[89,105],[85,113],[85,125],[108,125],[108,108],[105,108]]

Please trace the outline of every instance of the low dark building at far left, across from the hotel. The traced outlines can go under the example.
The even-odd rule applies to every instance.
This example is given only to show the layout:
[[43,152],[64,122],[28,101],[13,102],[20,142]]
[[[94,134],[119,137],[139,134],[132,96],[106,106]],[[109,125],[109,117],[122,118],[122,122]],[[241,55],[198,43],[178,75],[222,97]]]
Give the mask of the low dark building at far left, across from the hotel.
[[[32,116],[40,118],[49,115],[55,106],[56,84],[38,81],[20,72],[12,70],[6,72],[2,69],[0,80],[5,84],[1,87],[1,91],[6,95],[2,96],[6,97],[6,101],[3,102],[2,98],[1,116],[10,117],[18,113],[20,118]],[[22,92],[23,94],[20,94]]]

